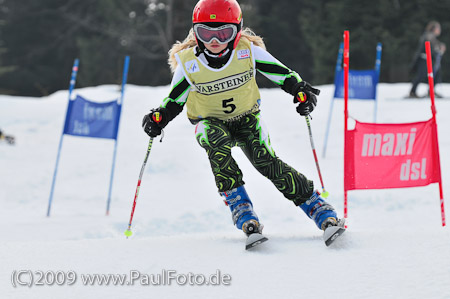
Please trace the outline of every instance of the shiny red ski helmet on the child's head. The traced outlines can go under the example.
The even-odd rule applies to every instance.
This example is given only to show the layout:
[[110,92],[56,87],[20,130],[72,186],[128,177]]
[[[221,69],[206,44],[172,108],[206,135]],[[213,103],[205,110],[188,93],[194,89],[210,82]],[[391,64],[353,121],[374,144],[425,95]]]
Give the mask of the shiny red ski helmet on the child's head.
[[[200,0],[194,7],[192,14],[192,24],[198,23],[218,23],[235,24],[237,27],[236,38],[233,49],[236,48],[242,30],[242,11],[236,0]],[[197,39],[197,37],[196,37]],[[197,44],[199,43],[197,39]]]

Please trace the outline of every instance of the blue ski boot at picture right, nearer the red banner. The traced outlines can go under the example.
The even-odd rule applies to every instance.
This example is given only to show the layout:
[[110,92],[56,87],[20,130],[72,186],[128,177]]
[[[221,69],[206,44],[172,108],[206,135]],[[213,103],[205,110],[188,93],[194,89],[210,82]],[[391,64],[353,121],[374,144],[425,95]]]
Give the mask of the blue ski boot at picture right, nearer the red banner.
[[320,197],[318,191],[314,191],[311,197],[300,208],[314,220],[317,227],[325,230],[328,226],[337,226],[338,218],[334,208]]

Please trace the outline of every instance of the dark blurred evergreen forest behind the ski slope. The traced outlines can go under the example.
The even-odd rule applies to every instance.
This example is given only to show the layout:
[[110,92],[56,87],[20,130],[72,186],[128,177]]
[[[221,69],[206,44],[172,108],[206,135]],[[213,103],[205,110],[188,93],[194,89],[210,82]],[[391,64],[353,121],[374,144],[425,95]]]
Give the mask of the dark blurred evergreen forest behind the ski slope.
[[[191,28],[197,0],[0,0],[0,92],[40,96],[68,86],[80,58],[77,86],[118,84],[131,56],[129,83],[166,85],[168,50]],[[449,0],[240,0],[244,26],[267,49],[313,84],[332,83],[339,43],[350,31],[350,67],[370,69],[383,44],[381,81],[408,82],[420,35],[441,23],[450,45]],[[450,50],[449,50],[450,51]],[[449,81],[450,52],[442,59]],[[274,87],[262,76],[258,83]]]

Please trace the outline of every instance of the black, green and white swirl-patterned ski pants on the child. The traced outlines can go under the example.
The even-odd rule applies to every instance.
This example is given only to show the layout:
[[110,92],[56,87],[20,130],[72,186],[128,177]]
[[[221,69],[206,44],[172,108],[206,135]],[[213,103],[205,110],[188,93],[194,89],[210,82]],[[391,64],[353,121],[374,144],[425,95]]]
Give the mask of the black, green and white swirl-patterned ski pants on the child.
[[242,171],[231,155],[231,148],[239,146],[253,166],[287,199],[299,205],[311,196],[312,181],[275,155],[258,112],[229,122],[203,119],[197,124],[195,135],[208,154],[219,192],[244,184]]

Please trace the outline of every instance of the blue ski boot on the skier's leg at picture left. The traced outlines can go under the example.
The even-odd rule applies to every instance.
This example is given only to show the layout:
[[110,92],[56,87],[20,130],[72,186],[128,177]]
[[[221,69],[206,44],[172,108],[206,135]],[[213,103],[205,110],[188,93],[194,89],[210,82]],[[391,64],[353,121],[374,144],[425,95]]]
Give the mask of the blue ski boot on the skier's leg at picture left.
[[220,195],[225,198],[224,202],[230,208],[233,223],[238,229],[241,229],[247,236],[261,233],[262,225],[253,211],[253,204],[244,186],[220,192]]

